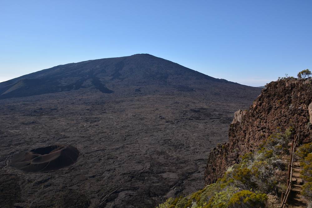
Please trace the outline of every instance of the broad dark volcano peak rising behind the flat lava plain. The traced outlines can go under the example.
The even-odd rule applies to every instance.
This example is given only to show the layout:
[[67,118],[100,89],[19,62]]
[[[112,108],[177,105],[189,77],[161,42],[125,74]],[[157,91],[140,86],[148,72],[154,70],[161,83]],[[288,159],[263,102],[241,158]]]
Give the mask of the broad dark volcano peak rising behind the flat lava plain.
[[[204,75],[149,54],[59,65],[0,83],[0,99],[98,89],[117,95],[202,91],[217,100],[253,98],[260,91]],[[142,94],[141,93],[141,94]]]

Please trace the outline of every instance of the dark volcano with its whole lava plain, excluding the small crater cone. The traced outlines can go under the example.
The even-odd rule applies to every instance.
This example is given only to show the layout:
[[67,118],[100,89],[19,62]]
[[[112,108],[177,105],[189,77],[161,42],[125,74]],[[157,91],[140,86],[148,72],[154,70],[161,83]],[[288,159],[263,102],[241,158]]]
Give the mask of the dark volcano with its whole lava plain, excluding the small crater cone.
[[[204,185],[208,152],[261,89],[148,54],[60,65],[0,83],[1,207],[153,207]],[[28,173],[22,151],[71,145]],[[18,197],[16,197],[18,196]]]

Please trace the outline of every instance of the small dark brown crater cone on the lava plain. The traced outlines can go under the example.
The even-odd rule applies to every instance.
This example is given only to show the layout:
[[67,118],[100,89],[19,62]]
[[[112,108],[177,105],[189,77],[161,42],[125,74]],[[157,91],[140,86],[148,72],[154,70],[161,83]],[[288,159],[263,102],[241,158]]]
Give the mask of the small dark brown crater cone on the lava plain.
[[79,151],[70,145],[53,145],[20,152],[12,158],[12,166],[25,172],[46,172],[75,163]]

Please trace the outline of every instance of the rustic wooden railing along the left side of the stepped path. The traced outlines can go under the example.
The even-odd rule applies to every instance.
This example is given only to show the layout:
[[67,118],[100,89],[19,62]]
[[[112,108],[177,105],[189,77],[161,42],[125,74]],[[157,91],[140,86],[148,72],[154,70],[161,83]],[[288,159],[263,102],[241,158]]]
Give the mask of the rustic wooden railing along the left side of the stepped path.
[[294,140],[291,142],[291,149],[290,149],[290,162],[288,165],[288,178],[287,178],[287,190],[286,192],[282,192],[281,197],[281,208],[284,208],[287,203],[287,199],[289,197],[291,191],[291,181],[292,181],[292,173],[293,173],[293,164],[294,164],[294,152],[296,149],[297,144],[299,143],[299,133],[294,136]]

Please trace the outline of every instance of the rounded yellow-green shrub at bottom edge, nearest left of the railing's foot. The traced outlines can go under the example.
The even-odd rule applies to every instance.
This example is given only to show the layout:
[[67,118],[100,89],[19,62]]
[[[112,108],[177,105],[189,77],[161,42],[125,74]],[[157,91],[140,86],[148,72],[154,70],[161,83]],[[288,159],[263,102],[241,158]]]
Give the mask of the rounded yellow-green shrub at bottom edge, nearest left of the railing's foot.
[[266,194],[256,194],[249,190],[242,190],[235,193],[231,197],[229,201],[229,207],[265,207],[266,200]]

